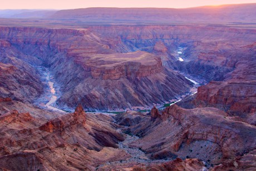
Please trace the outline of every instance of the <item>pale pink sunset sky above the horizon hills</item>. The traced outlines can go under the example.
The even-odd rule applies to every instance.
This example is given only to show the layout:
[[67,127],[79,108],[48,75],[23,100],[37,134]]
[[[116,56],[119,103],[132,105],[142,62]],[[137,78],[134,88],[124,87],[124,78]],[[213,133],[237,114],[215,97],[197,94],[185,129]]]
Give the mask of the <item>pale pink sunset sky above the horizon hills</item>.
[[75,9],[88,7],[189,8],[256,0],[0,0],[0,9]]

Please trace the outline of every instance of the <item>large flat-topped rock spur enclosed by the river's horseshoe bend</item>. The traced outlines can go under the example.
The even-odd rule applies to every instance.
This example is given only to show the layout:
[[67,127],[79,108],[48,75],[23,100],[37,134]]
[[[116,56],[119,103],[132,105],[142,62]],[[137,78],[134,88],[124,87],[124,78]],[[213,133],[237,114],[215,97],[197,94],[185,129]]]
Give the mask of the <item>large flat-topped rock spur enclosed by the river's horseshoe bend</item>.
[[0,30],[0,38],[11,43],[11,48],[29,54],[28,61],[50,67],[63,92],[57,100],[60,107],[73,108],[82,103],[87,109],[115,110],[152,105],[184,94],[191,87],[181,74],[162,66],[159,56],[142,51],[119,53],[113,38],[88,29]]

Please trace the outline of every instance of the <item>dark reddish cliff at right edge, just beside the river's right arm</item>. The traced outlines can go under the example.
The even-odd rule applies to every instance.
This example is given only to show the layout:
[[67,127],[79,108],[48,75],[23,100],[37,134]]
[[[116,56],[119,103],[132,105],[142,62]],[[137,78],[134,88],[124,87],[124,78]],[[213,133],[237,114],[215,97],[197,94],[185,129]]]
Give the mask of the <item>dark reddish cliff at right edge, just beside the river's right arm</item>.
[[210,82],[198,88],[196,100],[232,114],[255,113],[256,82]]

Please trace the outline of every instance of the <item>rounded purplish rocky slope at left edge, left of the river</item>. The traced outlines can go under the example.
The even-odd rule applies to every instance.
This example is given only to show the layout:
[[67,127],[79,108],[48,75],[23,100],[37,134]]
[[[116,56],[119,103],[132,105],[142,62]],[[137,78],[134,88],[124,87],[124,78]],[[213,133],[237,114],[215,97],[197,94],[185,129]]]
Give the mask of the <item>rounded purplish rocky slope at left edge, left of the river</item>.
[[[40,78],[35,69],[26,63],[16,62],[13,66],[12,64],[1,63],[0,59],[0,96],[22,102],[32,102],[43,92]],[[31,70],[29,71],[29,69]],[[35,73],[31,71],[35,71]]]

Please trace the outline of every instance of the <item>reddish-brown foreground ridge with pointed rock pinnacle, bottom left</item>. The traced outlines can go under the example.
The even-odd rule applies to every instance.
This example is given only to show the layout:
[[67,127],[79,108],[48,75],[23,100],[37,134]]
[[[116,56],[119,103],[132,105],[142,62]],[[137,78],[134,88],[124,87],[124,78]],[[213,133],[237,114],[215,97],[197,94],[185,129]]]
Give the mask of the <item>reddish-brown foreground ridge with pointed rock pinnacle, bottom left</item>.
[[93,170],[130,157],[117,149],[124,136],[108,115],[87,115],[79,105],[74,113],[41,121],[17,110],[0,116],[0,168]]

